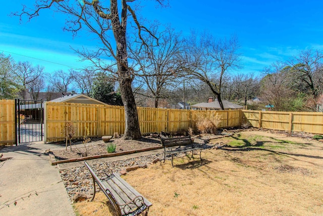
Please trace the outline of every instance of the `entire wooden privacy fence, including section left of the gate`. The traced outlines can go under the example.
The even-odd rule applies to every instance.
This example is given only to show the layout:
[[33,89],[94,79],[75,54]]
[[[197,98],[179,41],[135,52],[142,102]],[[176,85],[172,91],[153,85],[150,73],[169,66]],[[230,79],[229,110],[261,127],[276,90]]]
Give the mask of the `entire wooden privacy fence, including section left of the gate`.
[[[195,129],[201,117],[220,116],[219,127],[240,126],[250,122],[254,127],[277,129],[289,132],[323,134],[323,112],[274,112],[254,110],[199,111],[178,109],[155,109],[138,107],[142,134],[154,132],[187,131]],[[81,138],[89,129],[90,137],[123,134],[125,112],[121,106],[93,104],[44,103],[44,136],[46,142],[64,140],[66,121],[72,121],[76,138]],[[0,100],[0,145],[12,145],[16,141],[15,101]]]

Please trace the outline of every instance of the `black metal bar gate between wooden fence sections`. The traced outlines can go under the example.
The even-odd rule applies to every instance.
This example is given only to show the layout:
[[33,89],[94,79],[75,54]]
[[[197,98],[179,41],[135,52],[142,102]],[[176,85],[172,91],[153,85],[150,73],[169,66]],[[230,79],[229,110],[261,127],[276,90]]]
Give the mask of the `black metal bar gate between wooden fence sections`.
[[16,99],[16,145],[43,140],[42,101]]

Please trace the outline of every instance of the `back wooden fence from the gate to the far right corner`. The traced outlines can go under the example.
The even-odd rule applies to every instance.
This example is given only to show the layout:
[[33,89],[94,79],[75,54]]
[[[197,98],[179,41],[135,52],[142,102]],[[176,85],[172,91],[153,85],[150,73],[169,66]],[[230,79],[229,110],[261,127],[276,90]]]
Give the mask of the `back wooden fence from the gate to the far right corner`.
[[[218,113],[221,116],[220,127],[239,126],[240,110],[193,111],[179,109],[156,109],[138,107],[140,131],[142,134],[187,131],[195,128],[199,115]],[[199,114],[192,114],[199,113]],[[66,121],[72,121],[76,138],[81,138],[89,129],[90,137],[123,134],[125,131],[125,111],[121,106],[93,104],[52,103],[44,105],[44,128],[47,142],[64,140]]]

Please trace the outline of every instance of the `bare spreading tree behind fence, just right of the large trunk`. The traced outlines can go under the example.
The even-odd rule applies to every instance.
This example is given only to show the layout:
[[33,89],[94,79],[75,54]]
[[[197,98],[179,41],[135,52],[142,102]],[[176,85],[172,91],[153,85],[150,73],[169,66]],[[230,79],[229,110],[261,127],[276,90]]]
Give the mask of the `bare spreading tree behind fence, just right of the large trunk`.
[[[157,32],[153,33],[157,35]],[[177,57],[182,49],[182,40],[180,34],[169,27],[159,33],[158,44],[149,35],[145,35],[144,40],[147,45],[145,47],[141,44],[133,48],[129,46],[130,58],[135,61],[134,67],[139,67],[137,80],[143,82],[149,90],[144,96],[152,98],[153,106],[157,108],[159,99],[169,97],[166,88],[174,83],[174,74],[179,67]]]

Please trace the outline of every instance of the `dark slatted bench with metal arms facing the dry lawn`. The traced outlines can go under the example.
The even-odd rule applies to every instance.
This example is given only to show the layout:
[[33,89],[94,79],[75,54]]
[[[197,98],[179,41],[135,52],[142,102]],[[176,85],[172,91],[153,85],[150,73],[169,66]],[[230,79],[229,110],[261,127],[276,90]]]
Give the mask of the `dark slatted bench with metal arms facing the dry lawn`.
[[200,150],[200,159],[202,160],[201,151],[204,149],[204,147],[193,146],[193,142],[190,136],[176,137],[176,138],[167,138],[164,136],[160,136],[160,142],[161,142],[161,145],[163,145],[164,147],[164,162],[166,159],[166,155],[172,155],[173,167],[174,167],[174,164],[173,164],[174,154],[178,154],[178,153],[192,152],[192,157],[193,157],[193,152],[195,150]]

